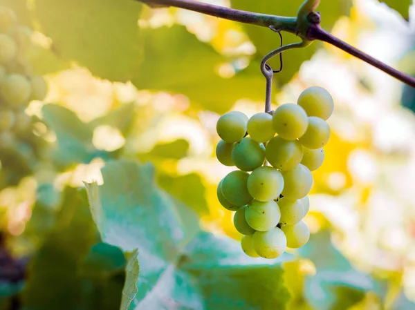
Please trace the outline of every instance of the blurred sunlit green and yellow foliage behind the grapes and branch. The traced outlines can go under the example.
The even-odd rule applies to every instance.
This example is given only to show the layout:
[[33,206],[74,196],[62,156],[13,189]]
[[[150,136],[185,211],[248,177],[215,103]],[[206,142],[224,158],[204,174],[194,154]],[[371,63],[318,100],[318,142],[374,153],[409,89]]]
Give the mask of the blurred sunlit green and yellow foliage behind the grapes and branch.
[[[205,2],[294,16],[302,1]],[[324,28],[415,74],[410,2],[319,10]],[[214,158],[215,123],[263,109],[259,60],[277,35],[131,0],[0,3],[35,30],[30,58],[49,86],[26,110],[37,139],[0,136],[12,150],[1,310],[415,309],[414,89],[322,43],[286,52],[274,107],[326,88],[332,137],[313,175],[310,242],[250,259],[216,201],[231,168]]]

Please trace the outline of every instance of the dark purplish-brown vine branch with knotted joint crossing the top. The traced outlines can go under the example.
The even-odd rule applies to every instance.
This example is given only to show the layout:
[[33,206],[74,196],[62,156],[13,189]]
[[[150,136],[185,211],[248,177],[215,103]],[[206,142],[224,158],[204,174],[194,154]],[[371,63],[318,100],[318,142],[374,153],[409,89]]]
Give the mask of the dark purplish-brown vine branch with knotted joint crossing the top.
[[[367,55],[365,52],[349,45],[348,43],[331,35],[326,30],[320,27],[320,14],[317,12],[310,12],[309,9],[314,10],[319,1],[307,0],[304,4],[310,3],[309,6],[303,6],[298,11],[297,17],[282,17],[271,14],[259,14],[255,12],[248,12],[243,10],[235,10],[232,8],[225,8],[223,6],[215,6],[213,4],[202,3],[192,0],[136,0],[146,3],[149,6],[174,6],[194,12],[208,14],[214,17],[229,19],[231,21],[238,21],[240,23],[248,23],[250,25],[262,26],[271,29],[278,29],[286,31],[299,36],[304,44],[297,47],[305,47],[311,41],[320,40],[329,43],[340,50],[344,50],[350,55],[367,62],[371,66],[382,70],[392,77],[402,81],[403,83],[415,88],[415,78],[405,73],[384,64],[382,61]],[[309,8],[308,8],[309,7]],[[307,42],[307,44],[305,43]]]

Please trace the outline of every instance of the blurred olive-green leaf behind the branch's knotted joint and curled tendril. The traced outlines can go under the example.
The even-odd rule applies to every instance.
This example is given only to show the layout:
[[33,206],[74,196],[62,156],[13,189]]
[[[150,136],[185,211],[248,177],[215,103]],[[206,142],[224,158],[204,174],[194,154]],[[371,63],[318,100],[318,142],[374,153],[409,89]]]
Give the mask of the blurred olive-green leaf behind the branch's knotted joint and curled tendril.
[[[326,30],[331,30],[335,21],[343,15],[349,15],[351,8],[351,0],[344,1],[321,1],[317,11],[322,14],[322,27]],[[251,0],[231,0],[232,8],[239,10],[248,10],[252,12],[259,12],[264,14],[275,14],[280,16],[297,15],[299,6],[303,0],[273,0],[273,1],[251,1]],[[264,27],[245,25],[244,29],[250,37],[252,43],[257,48],[256,58],[260,60],[268,52],[279,47],[279,36],[277,33],[266,29]],[[301,39],[293,35],[282,32],[284,36],[284,45],[288,43],[299,42]],[[295,50],[288,50],[284,52],[284,70],[274,75],[274,81],[277,87],[286,84],[298,72],[301,64],[311,59],[319,44],[313,43],[306,48]],[[269,64],[274,69],[279,68],[279,57],[274,57],[269,61]]]

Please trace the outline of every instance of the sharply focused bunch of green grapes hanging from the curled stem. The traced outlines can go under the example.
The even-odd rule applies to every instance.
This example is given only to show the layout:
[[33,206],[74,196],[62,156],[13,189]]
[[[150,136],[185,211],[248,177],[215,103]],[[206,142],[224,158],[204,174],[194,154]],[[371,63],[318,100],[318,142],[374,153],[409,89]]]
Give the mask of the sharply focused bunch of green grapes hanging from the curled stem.
[[284,104],[273,113],[248,119],[232,111],[219,118],[216,157],[239,170],[219,182],[217,196],[225,209],[235,211],[234,226],[243,234],[247,255],[277,258],[287,246],[299,248],[310,238],[302,219],[309,208],[311,171],[324,160],[330,137],[326,120],[333,107],[329,92],[311,87],[297,104]]

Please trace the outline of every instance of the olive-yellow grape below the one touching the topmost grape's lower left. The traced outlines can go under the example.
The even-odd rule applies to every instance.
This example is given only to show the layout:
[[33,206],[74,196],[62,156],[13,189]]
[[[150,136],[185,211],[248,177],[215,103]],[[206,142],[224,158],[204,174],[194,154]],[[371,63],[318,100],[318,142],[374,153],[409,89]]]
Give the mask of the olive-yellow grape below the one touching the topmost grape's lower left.
[[282,137],[273,137],[265,149],[268,162],[281,171],[294,168],[302,159],[302,145],[297,141],[288,141]]

